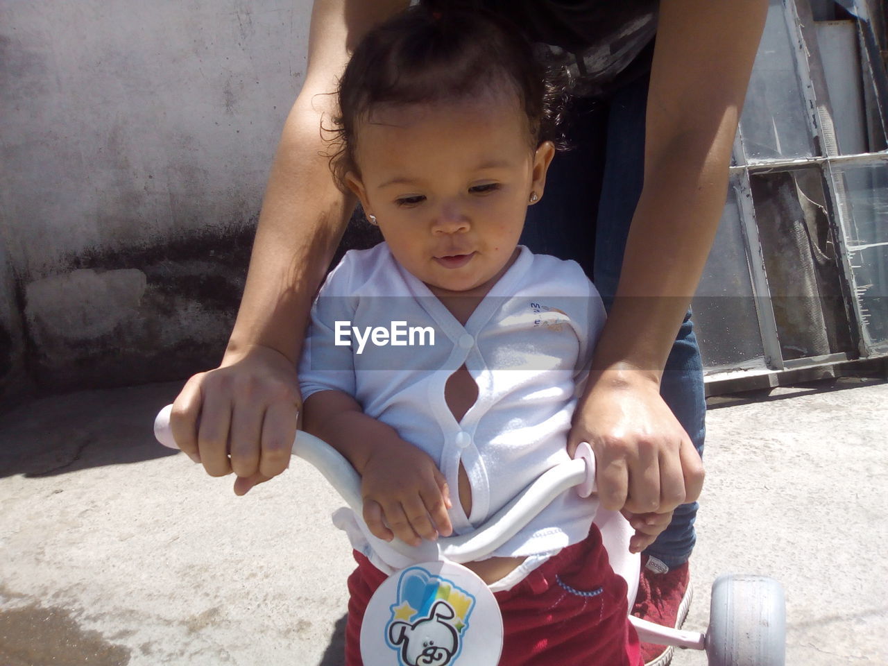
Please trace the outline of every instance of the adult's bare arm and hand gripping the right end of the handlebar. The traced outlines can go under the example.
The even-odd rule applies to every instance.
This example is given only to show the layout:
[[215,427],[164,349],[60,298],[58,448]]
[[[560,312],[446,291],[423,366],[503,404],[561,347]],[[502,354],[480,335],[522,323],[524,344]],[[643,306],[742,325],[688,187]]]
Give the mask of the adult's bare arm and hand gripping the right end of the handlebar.
[[620,283],[575,415],[609,509],[669,512],[702,488],[700,457],[660,397],[663,367],[725,205],[733,138],[767,0],[664,0],[646,109],[644,186]]

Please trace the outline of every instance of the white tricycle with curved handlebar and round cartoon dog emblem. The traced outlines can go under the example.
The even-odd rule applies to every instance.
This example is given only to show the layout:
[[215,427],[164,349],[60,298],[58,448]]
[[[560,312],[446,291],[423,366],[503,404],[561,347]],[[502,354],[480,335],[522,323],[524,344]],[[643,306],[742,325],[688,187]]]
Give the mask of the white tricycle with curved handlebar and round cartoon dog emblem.
[[[155,420],[155,436],[178,448],[170,432],[170,409]],[[293,455],[313,464],[361,515],[361,478],[336,449],[297,432]],[[595,490],[595,457],[581,444],[575,459],[525,488],[487,524],[471,534],[410,546],[387,543],[407,567],[386,579],[370,599],[361,626],[365,666],[495,666],[503,648],[503,619],[496,598],[461,562],[483,559],[568,488],[588,497]],[[629,523],[618,512],[599,510],[601,531],[614,572],[629,585],[629,606],[638,591],[640,556],[629,551]],[[704,650],[710,666],[783,666],[786,611],[781,584],[759,575],[722,575],[712,586],[710,625],[705,633],[661,627],[630,616],[642,642]]]

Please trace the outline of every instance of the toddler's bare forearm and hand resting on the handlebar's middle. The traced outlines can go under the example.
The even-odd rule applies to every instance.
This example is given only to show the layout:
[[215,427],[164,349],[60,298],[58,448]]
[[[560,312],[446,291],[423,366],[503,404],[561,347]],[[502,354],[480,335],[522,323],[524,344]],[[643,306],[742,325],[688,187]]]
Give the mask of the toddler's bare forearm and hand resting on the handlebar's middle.
[[450,494],[438,466],[400,439],[389,425],[367,416],[345,392],[320,391],[305,400],[303,428],[336,448],[361,474],[364,521],[385,541],[397,536],[419,545],[453,531]]

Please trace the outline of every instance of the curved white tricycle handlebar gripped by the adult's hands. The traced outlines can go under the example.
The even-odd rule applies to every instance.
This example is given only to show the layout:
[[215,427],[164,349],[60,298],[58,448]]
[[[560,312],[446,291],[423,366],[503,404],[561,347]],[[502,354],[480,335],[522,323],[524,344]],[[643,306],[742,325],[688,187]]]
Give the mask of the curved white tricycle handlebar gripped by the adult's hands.
[[[164,407],[155,418],[155,437],[163,446],[178,448],[170,430],[171,409],[172,405]],[[361,515],[361,477],[335,448],[308,432],[297,431],[293,441],[293,455],[313,464],[329,484],[337,489],[345,503],[357,515]],[[575,486],[581,497],[590,496],[595,490],[595,456],[586,442],[582,442],[577,448],[574,460],[544,472],[474,532],[442,537],[435,542],[424,540],[417,547],[396,538],[388,546],[410,559],[417,559],[417,555],[421,555],[424,561],[448,559],[453,562],[471,562],[483,559],[518,534],[522,527],[557,496]]]

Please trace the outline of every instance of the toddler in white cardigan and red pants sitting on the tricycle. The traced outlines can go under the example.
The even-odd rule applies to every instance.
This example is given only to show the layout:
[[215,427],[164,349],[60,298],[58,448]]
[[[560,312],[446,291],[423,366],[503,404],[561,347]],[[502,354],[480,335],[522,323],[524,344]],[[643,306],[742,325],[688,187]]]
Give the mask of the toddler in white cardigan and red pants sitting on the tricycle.
[[[605,311],[575,262],[518,245],[556,93],[500,20],[421,7],[369,33],[340,82],[332,166],[385,242],[329,274],[298,374],[303,428],[361,474],[362,515],[336,516],[358,563],[348,666],[370,596],[412,564],[388,542],[471,531],[567,461]],[[596,508],[568,490],[466,565],[500,604],[501,663],[638,666]]]

